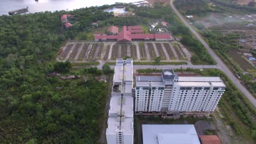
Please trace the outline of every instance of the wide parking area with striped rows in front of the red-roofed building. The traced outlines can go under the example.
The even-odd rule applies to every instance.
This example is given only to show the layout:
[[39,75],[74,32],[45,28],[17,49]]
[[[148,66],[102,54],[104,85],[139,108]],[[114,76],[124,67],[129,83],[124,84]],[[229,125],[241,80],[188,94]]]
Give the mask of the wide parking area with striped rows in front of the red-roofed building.
[[118,44],[114,42],[69,41],[61,47],[57,61],[115,61],[117,58],[131,57],[134,61],[187,61],[190,53],[181,43],[168,41],[138,42]]

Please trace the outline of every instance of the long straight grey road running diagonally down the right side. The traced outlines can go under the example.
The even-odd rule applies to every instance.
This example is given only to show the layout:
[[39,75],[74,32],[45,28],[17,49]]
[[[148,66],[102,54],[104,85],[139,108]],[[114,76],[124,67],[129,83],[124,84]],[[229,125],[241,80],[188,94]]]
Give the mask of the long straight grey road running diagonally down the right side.
[[174,10],[174,12],[177,14],[177,16],[179,17],[179,19],[182,20],[182,22],[184,23],[185,26],[187,26],[190,31],[195,35],[195,37],[197,39],[199,39],[201,41],[201,43],[206,47],[207,51],[210,53],[210,55],[213,57],[213,59],[218,63],[218,67],[220,70],[222,70],[228,77],[229,79],[236,85],[236,87],[243,93],[246,95],[246,97],[249,99],[249,101],[251,101],[251,103],[254,105],[254,107],[256,107],[256,100],[253,97],[253,95],[251,93],[249,93],[249,91],[240,83],[240,81],[237,79],[237,77],[232,74],[232,72],[229,70],[228,67],[226,67],[226,65],[222,62],[222,60],[220,60],[220,58],[216,55],[216,53],[214,53],[214,51],[210,48],[210,46],[205,42],[205,40],[203,40],[200,35],[195,31],[195,29],[193,27],[191,27],[189,25],[189,23],[184,19],[184,17],[178,12],[178,10],[174,7],[173,5],[173,1],[171,0],[170,4],[172,9]]

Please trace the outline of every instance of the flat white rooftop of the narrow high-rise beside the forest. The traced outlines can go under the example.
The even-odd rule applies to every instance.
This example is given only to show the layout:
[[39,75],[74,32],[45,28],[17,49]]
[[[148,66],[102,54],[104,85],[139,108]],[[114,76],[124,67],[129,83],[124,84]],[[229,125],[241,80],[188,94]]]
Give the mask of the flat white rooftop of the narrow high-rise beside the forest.
[[132,59],[117,59],[113,81],[123,83],[124,78],[124,83],[121,85],[122,91],[112,92],[106,134],[115,134],[117,130],[133,134],[132,68]]

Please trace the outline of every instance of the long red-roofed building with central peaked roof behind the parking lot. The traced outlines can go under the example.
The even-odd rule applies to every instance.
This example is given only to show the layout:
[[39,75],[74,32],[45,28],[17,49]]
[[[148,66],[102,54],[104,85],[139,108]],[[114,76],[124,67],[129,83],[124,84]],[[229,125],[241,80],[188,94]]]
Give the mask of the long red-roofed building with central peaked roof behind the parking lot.
[[95,35],[95,41],[118,41],[121,43],[127,41],[172,41],[171,34],[132,34],[127,31],[127,27],[123,27],[123,31],[117,35]]

